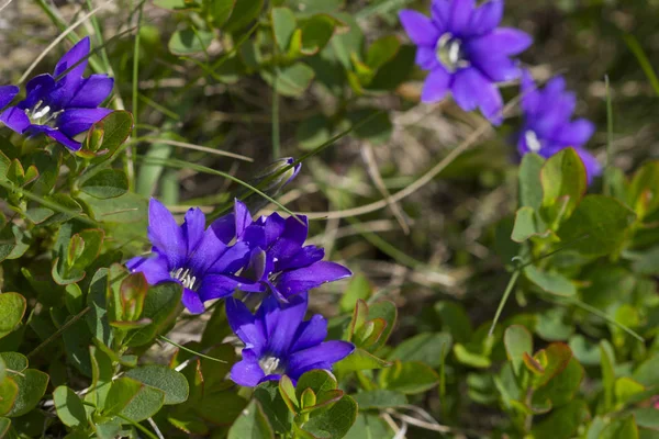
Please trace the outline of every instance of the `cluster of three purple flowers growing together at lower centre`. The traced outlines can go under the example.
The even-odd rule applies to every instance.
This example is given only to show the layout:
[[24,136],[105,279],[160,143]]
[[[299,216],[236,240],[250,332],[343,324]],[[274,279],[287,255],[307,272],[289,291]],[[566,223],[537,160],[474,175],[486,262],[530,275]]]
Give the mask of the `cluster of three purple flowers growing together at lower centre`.
[[[228,323],[245,342],[243,360],[232,369],[236,383],[254,386],[283,373],[294,381],[312,369],[332,369],[354,350],[349,342],[323,341],[327,322],[321,315],[303,322],[309,290],[351,274],[336,262],[323,261],[322,248],[304,246],[308,229],[304,216],[284,219],[273,213],[253,221],[237,200],[233,213],[208,227],[199,209],[190,209],[179,226],[152,199],[150,255],[135,257],[126,266],[144,273],[150,284],[180,283],[182,304],[193,314],[203,313],[206,301],[227,299]],[[236,291],[267,295],[253,315],[231,297]]]

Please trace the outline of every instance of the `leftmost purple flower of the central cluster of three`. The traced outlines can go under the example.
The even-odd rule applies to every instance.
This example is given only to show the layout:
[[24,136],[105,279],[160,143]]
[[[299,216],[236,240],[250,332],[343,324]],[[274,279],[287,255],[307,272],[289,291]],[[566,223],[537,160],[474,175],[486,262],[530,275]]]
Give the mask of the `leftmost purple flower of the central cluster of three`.
[[247,263],[249,247],[246,243],[230,246],[235,230],[235,224],[228,223],[206,228],[199,209],[190,209],[179,226],[167,207],[152,199],[147,232],[153,255],[133,258],[126,267],[143,272],[149,284],[180,283],[183,305],[193,314],[203,313],[203,302],[226,297],[243,282],[235,273]]

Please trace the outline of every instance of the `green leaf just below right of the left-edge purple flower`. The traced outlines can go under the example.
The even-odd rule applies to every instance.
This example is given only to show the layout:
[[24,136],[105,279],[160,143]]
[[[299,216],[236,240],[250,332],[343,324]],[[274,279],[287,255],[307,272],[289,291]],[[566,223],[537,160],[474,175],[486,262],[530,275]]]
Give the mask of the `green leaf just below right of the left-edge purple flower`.
[[113,111],[93,124],[87,134],[88,146],[90,140],[99,138],[99,150],[92,164],[100,164],[111,158],[133,132],[133,114],[127,111]]

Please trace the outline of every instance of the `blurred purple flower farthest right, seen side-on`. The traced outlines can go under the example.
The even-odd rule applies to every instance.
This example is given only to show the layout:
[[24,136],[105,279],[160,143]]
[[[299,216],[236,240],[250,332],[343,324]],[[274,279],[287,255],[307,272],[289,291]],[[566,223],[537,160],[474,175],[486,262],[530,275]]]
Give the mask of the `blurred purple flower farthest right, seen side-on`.
[[548,158],[561,149],[573,147],[588,175],[588,181],[602,173],[597,160],[583,145],[595,132],[585,119],[571,121],[577,106],[574,93],[566,91],[566,81],[556,77],[538,89],[530,72],[522,76],[522,111],[524,123],[517,135],[521,155],[536,153]]

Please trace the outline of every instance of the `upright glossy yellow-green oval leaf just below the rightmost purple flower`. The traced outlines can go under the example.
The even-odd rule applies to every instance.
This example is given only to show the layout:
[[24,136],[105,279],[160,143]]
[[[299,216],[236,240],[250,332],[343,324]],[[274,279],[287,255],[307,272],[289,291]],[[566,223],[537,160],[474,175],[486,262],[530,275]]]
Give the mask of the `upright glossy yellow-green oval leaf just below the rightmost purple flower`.
[[572,214],[585,193],[585,168],[577,151],[566,148],[547,159],[540,180],[544,216],[556,226]]

